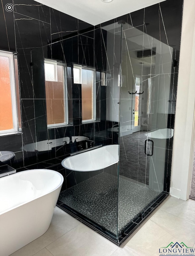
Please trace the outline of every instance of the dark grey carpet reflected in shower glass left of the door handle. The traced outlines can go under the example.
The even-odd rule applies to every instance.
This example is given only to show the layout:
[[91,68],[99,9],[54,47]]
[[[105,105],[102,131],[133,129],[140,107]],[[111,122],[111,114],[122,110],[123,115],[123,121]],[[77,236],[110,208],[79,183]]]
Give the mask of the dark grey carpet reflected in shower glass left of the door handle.
[[150,158],[144,154],[146,131],[120,137],[119,174],[149,183]]

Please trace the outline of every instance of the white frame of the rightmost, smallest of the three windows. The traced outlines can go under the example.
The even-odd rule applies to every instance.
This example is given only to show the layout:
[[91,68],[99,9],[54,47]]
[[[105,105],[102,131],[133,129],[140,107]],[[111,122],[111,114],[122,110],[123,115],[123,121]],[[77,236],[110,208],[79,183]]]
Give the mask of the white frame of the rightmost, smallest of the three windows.
[[[92,70],[94,72],[94,78],[93,78],[93,119],[87,119],[87,120],[83,120],[82,118],[82,124],[83,123],[92,123],[96,121],[96,68],[92,68],[89,66],[82,66],[82,65],[78,65],[73,63],[73,81],[74,81],[74,68],[80,69],[80,84],[82,87],[82,69],[86,69],[86,70]],[[79,83],[76,83],[79,84]]]

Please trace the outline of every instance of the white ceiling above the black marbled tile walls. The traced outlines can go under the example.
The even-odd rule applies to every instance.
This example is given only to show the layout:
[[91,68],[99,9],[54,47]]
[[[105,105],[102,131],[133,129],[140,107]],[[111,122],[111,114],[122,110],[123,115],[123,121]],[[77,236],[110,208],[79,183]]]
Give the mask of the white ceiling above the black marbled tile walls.
[[44,5],[92,25],[98,25],[163,1],[165,0],[113,0],[105,3],[101,0],[38,0]]

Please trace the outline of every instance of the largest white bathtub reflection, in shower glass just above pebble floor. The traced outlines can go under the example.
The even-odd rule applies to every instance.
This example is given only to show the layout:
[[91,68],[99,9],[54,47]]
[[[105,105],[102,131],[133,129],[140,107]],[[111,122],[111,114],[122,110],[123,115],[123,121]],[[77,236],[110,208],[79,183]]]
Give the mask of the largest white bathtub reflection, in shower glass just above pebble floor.
[[65,158],[62,166],[78,172],[91,172],[104,169],[119,161],[119,145],[108,145],[101,148]]

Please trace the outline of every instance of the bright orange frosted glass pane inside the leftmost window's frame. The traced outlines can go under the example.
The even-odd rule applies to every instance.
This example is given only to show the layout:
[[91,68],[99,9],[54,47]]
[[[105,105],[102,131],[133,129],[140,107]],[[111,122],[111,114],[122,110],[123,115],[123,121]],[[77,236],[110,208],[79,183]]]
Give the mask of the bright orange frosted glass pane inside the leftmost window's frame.
[[13,129],[9,58],[0,56],[0,130]]

